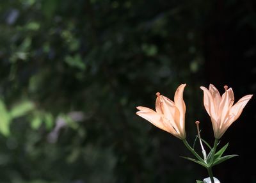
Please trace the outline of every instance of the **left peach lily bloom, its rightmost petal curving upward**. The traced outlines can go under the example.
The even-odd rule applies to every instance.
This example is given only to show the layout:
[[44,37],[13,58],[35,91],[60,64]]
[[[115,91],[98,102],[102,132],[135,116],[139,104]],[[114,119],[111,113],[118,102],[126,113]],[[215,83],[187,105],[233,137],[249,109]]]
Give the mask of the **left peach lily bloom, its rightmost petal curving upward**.
[[177,88],[174,96],[174,102],[159,92],[156,93],[156,111],[148,107],[137,107],[136,115],[141,116],[159,129],[170,132],[180,139],[186,138],[185,132],[185,112],[186,106],[183,100],[183,91],[186,84],[181,84]]

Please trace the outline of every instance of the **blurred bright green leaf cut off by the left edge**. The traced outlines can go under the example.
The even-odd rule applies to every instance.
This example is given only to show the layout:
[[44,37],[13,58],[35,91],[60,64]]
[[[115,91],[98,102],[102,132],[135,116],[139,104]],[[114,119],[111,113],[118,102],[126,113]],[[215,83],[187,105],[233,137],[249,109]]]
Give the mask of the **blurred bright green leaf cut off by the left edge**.
[[6,109],[3,100],[0,99],[0,132],[4,136],[10,134],[10,115]]

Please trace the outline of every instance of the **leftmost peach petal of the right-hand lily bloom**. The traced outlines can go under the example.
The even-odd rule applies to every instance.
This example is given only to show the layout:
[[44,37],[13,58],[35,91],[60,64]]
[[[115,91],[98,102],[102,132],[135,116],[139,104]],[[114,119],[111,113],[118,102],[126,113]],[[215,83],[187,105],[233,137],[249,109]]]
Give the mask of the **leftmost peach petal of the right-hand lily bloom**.
[[218,122],[218,115],[216,114],[214,100],[212,99],[211,93],[204,86],[201,86],[200,88],[204,91],[204,107],[208,115]]

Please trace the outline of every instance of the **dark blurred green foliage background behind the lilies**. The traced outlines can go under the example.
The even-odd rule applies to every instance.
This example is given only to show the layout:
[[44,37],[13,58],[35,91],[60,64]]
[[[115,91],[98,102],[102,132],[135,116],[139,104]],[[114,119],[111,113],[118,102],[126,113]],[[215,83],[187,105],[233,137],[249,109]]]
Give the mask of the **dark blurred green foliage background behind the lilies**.
[[[0,3],[0,182],[195,182],[182,141],[139,116],[181,83],[189,143],[200,86],[256,90],[255,1],[19,0]],[[221,182],[256,182],[255,97],[221,138]],[[197,147],[198,148],[198,147]]]

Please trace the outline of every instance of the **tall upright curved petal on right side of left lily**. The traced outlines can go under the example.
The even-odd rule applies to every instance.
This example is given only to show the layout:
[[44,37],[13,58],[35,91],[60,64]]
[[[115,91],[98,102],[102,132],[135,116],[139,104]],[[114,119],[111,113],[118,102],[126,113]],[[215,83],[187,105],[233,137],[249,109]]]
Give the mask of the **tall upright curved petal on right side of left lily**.
[[179,109],[180,113],[180,126],[184,126],[184,121],[185,121],[185,113],[186,113],[186,105],[183,100],[183,92],[186,84],[180,84],[180,86],[177,88],[175,95],[174,95],[174,103],[175,106]]

